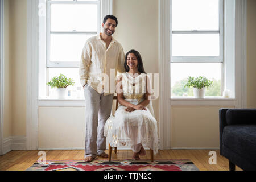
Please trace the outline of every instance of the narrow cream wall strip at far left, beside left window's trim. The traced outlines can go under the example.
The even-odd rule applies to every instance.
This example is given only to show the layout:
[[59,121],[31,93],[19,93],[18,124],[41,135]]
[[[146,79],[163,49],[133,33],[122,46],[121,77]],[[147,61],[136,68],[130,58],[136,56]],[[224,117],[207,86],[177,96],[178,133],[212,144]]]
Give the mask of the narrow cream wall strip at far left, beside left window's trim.
[[12,135],[26,136],[27,0],[10,0],[9,7]]

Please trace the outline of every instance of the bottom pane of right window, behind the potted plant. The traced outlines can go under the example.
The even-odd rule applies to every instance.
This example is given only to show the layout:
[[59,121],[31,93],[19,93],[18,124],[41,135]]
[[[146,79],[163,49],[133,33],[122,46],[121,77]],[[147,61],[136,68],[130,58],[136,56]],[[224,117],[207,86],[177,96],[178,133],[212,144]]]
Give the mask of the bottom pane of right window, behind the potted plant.
[[189,76],[207,77],[213,86],[205,96],[221,96],[221,63],[171,63],[171,97],[193,96],[193,89],[184,87]]

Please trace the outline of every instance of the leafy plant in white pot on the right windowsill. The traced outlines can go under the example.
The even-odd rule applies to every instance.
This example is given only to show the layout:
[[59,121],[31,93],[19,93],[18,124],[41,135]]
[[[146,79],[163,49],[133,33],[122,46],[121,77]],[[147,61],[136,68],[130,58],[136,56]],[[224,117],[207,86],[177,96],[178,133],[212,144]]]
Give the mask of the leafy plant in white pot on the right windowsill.
[[193,93],[195,98],[204,98],[205,88],[212,86],[213,81],[208,80],[204,76],[199,77],[188,77],[185,87],[193,87]]

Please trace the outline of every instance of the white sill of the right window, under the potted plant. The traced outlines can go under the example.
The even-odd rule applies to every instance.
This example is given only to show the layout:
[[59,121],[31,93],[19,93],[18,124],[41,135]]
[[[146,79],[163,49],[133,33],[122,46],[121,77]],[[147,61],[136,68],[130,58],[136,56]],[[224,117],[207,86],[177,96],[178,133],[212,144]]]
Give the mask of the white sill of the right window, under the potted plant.
[[225,97],[172,97],[171,106],[235,106],[235,98]]

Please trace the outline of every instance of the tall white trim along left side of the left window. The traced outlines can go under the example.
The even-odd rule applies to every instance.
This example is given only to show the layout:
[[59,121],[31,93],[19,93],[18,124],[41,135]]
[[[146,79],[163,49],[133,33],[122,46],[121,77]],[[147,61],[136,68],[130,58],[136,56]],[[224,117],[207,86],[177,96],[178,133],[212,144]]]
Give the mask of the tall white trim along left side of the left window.
[[27,1],[27,123],[26,150],[38,149],[38,0]]

